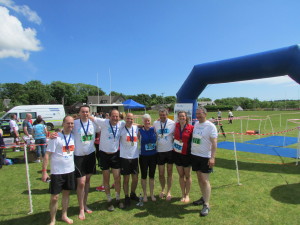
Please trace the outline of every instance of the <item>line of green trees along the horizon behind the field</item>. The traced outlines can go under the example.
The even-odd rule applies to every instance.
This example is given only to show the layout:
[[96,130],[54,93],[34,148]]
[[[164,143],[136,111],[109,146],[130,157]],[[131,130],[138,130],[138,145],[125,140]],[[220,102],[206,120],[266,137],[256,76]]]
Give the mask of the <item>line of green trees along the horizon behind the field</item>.
[[[38,105],[38,104],[63,104],[71,106],[76,102],[87,102],[88,96],[106,95],[106,93],[97,86],[83,83],[64,83],[53,81],[50,84],[43,84],[41,81],[32,80],[25,84],[20,83],[2,83],[0,84],[0,99],[10,99],[9,108],[16,105]],[[137,94],[126,95],[112,91],[107,95],[123,96],[125,99],[133,99],[147,108],[157,104],[171,104],[172,108],[176,102],[175,96],[161,96],[156,94]],[[198,101],[212,101],[210,98],[199,98]],[[241,106],[243,109],[299,109],[299,100],[275,100],[260,101],[257,98],[246,97],[222,98],[214,101],[217,106],[208,106],[212,110],[218,108],[233,108]],[[0,105],[4,110],[4,105]]]

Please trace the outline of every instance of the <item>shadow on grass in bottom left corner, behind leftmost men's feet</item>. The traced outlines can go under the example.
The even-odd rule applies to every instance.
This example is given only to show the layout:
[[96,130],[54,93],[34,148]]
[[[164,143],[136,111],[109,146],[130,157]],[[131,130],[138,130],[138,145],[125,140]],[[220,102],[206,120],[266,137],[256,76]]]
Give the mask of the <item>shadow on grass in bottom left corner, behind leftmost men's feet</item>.
[[[60,203],[59,203],[60,204]],[[93,209],[93,211],[104,210],[106,207],[106,202],[95,202],[93,204],[89,204],[89,207]],[[69,207],[68,208],[68,216],[77,216],[79,212],[78,206]],[[6,215],[1,215],[6,216]],[[61,210],[57,211],[56,214],[57,221],[61,221]],[[76,218],[76,220],[79,220]],[[50,222],[50,214],[49,211],[33,213],[30,215],[22,216],[19,218],[8,219],[0,221],[0,225],[24,225],[24,224],[49,224]],[[76,223],[76,221],[74,221]]]

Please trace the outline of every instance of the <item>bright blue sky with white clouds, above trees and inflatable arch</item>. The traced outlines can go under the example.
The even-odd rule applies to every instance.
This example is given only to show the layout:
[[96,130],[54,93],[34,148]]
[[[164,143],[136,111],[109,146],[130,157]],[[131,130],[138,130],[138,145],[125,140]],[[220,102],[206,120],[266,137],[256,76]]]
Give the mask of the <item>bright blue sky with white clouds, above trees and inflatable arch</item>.
[[[0,0],[1,83],[176,95],[194,65],[300,43],[298,0]],[[276,91],[275,91],[276,90]],[[212,99],[300,99],[288,76],[209,85]]]

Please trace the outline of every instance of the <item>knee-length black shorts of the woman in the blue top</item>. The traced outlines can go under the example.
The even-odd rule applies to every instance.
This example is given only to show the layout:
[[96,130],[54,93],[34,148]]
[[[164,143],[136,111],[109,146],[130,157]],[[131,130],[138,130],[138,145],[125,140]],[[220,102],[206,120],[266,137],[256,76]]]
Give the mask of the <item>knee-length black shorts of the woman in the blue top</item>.
[[149,170],[149,178],[154,179],[156,164],[157,164],[157,154],[140,155],[139,162],[140,162],[142,179],[147,179],[148,170]]

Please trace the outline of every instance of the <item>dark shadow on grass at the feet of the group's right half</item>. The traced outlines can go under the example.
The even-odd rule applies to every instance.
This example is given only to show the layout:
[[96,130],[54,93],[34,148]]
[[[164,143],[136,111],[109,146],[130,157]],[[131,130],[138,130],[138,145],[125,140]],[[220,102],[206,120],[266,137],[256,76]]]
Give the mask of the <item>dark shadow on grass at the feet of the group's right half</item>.
[[[149,215],[159,218],[176,218],[184,219],[186,214],[195,214],[200,212],[199,209],[187,209],[192,204],[180,204],[180,198],[172,198],[171,201],[161,200],[157,198],[156,202],[144,203],[144,206],[139,207],[142,210],[136,213],[134,217],[145,218]],[[175,204],[176,203],[176,204]],[[159,210],[163,209],[163,210]]]

